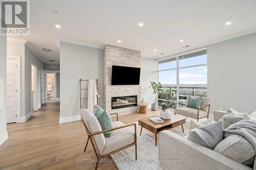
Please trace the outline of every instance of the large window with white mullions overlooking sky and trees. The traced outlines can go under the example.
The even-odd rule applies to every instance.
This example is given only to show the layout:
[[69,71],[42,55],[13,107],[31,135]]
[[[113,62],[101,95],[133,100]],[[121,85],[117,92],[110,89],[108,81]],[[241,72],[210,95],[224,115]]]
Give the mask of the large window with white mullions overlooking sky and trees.
[[[188,95],[207,96],[207,51],[202,50],[159,61],[159,82],[176,90],[180,106]],[[161,95],[159,97],[161,99]]]

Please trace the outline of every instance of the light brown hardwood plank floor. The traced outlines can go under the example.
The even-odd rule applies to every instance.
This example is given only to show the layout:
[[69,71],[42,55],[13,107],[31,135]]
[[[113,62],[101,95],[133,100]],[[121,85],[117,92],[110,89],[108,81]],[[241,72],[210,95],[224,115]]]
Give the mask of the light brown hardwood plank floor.
[[[157,114],[149,111],[118,118],[129,124]],[[80,121],[59,125],[59,103],[42,106],[25,123],[8,124],[7,131],[9,138],[0,146],[0,169],[95,169],[96,163],[87,162],[96,159],[90,141],[83,153],[86,130]],[[98,169],[117,169],[106,159],[109,163],[99,163]]]

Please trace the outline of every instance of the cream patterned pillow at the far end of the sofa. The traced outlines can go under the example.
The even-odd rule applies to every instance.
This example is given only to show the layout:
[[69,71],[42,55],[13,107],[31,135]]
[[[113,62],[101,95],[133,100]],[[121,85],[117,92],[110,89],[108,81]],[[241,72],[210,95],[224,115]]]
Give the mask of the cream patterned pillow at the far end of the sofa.
[[223,123],[223,128],[226,129],[228,128],[230,125],[239,122],[240,120],[244,119],[244,118],[249,118],[249,117],[244,117],[241,115],[237,115],[236,113],[232,112],[231,110],[227,110],[227,113],[224,114],[221,118],[220,118],[220,122]]

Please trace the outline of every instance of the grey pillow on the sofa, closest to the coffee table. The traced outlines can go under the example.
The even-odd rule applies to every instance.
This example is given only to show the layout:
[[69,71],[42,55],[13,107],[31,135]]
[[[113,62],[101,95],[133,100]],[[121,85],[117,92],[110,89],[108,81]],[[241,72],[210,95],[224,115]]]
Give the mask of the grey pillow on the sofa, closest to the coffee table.
[[187,139],[213,150],[216,145],[223,139],[222,122],[216,122],[195,128],[189,131]]

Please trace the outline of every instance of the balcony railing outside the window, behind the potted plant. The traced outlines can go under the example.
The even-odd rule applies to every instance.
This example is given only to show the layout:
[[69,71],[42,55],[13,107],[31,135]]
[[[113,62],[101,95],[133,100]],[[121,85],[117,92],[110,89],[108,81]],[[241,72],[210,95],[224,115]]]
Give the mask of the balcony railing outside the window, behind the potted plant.
[[[175,93],[177,94],[177,86],[164,86],[163,90],[165,91],[166,89],[173,89],[175,90]],[[179,87],[179,107],[182,107],[186,104],[186,99],[187,96],[202,96],[206,97],[207,96],[207,87],[185,87],[185,86],[180,86]],[[158,95],[158,105],[160,106],[162,103],[164,103],[165,99],[170,99],[177,101],[177,98],[170,98],[170,96],[167,96],[166,93],[161,93]]]

